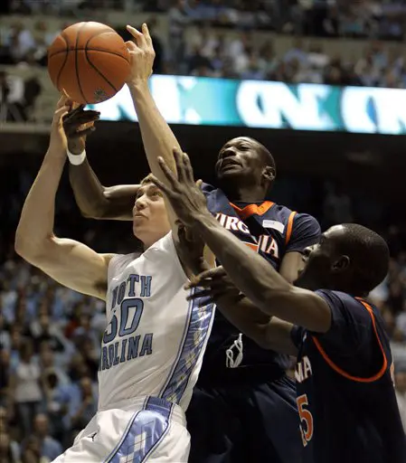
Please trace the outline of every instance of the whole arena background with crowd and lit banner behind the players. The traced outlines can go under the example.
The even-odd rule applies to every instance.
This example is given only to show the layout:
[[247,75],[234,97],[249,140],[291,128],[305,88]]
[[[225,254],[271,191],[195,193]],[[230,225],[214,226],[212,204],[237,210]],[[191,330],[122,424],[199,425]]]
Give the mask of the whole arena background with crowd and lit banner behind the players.
[[[52,282],[14,253],[24,197],[48,144],[57,99],[46,49],[68,24],[93,20],[127,38],[150,24],[151,89],[195,174],[214,182],[228,138],[247,135],[278,165],[272,200],[323,228],[381,232],[391,268],[371,299],[392,338],[406,425],[406,4],[206,0],[2,2],[0,21],[0,462],[46,462],[97,406],[103,304]],[[126,90],[98,106],[90,164],[106,185],[147,173]],[[55,230],[98,251],[134,246],[131,225],[82,218],[67,175]]]

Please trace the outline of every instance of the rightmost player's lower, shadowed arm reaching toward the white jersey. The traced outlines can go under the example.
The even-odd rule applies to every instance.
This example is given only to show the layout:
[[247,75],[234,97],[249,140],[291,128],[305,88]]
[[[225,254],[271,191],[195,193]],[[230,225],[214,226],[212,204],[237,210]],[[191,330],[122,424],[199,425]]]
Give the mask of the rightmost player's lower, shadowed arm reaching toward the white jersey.
[[[194,279],[192,279],[194,281]],[[296,355],[291,338],[293,325],[277,317],[269,317],[244,296],[232,283],[222,266],[213,269],[211,277],[198,277],[199,288],[189,299],[210,298],[229,322],[263,349]]]

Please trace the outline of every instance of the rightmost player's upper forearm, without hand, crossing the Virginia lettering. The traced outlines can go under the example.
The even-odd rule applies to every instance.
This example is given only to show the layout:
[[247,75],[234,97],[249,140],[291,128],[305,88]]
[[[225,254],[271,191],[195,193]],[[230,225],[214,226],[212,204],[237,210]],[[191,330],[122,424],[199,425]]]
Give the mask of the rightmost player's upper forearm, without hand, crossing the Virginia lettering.
[[225,230],[211,214],[197,219],[196,231],[220,260],[235,286],[264,313],[279,316],[274,302],[293,288],[288,281],[267,260]]

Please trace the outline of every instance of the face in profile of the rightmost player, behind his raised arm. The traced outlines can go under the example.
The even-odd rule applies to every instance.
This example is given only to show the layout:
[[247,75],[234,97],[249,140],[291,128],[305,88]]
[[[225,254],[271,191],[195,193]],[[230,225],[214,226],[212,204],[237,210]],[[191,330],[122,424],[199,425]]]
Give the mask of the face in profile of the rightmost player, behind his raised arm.
[[335,274],[343,271],[342,256],[336,250],[336,243],[344,233],[342,225],[335,225],[321,235],[317,244],[306,248],[304,268],[299,272],[297,286],[313,290],[331,288]]

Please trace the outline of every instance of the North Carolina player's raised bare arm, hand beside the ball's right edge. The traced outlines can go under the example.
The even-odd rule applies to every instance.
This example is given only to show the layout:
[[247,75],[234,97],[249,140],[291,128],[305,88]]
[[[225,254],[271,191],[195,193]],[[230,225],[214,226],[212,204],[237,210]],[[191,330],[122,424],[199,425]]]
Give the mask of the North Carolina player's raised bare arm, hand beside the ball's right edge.
[[[127,30],[135,40],[135,42],[127,42],[131,57],[131,71],[127,85],[137,111],[139,128],[149,167],[157,178],[166,183],[166,177],[163,175],[157,159],[159,156],[163,157],[169,168],[176,172],[173,150],[174,148],[180,149],[180,146],[165,118],[159,112],[148,87],[148,80],[152,74],[155,58],[148,28],[146,24],[143,24],[142,32],[131,26],[127,26]],[[172,229],[176,231],[175,214],[170,203],[167,203],[167,205]]]

